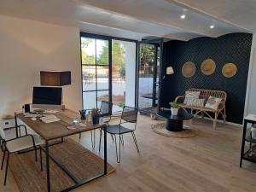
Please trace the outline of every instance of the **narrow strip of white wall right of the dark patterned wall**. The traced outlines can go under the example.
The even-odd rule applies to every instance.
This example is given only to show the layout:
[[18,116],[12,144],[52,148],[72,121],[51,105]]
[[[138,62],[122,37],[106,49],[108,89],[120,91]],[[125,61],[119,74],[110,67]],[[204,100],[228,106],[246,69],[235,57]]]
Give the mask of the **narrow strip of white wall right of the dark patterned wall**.
[[244,115],[256,114],[256,33],[253,34]]

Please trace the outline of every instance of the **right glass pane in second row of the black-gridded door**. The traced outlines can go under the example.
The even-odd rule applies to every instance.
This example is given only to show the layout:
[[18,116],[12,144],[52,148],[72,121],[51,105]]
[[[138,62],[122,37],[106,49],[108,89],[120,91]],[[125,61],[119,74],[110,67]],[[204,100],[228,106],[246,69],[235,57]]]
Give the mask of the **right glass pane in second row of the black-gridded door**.
[[97,90],[108,90],[108,66],[97,66]]

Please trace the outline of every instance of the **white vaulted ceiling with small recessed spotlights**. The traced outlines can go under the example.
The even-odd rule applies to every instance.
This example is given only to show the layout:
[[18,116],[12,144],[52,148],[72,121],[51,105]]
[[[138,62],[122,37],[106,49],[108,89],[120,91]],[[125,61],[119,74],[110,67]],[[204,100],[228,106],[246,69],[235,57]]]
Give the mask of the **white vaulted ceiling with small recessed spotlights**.
[[76,26],[82,32],[119,38],[153,36],[185,41],[230,32],[255,32],[255,9],[254,0],[0,1],[2,15]]

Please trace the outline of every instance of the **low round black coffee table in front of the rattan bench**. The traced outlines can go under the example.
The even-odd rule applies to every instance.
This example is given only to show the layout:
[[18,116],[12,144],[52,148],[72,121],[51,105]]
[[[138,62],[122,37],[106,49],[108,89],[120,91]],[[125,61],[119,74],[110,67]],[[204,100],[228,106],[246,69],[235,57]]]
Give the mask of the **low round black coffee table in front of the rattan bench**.
[[194,117],[183,108],[178,109],[177,115],[172,115],[171,111],[160,111],[157,115],[166,119],[166,130],[168,131],[183,131],[183,120]]

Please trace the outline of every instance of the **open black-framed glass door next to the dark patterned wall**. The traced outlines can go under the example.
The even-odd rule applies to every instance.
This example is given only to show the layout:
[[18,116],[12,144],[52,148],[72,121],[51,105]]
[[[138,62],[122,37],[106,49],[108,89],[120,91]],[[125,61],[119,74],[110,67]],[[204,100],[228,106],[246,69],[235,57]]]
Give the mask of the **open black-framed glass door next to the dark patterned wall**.
[[145,112],[155,112],[159,107],[160,48],[160,43],[154,41],[140,44],[138,108]]

